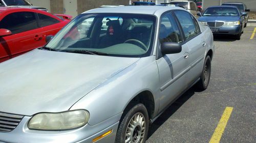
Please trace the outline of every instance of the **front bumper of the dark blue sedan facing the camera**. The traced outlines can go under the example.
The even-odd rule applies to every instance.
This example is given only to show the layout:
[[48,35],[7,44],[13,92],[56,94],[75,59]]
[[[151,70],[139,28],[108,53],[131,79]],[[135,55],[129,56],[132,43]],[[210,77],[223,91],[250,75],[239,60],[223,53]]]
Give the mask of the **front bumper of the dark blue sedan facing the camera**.
[[213,34],[228,34],[228,35],[237,35],[241,32],[241,26],[236,25],[232,27],[210,27],[210,28],[219,28],[219,32],[212,32]]

